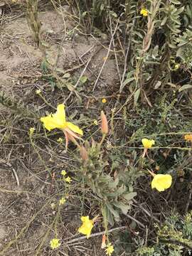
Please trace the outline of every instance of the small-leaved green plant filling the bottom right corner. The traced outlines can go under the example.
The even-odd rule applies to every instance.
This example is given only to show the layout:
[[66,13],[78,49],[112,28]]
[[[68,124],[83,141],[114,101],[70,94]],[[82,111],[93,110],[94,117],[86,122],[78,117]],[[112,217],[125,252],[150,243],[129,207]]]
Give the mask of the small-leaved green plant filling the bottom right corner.
[[172,213],[163,225],[156,225],[157,243],[151,247],[137,250],[141,256],[181,256],[183,252],[192,252],[192,212],[183,218]]

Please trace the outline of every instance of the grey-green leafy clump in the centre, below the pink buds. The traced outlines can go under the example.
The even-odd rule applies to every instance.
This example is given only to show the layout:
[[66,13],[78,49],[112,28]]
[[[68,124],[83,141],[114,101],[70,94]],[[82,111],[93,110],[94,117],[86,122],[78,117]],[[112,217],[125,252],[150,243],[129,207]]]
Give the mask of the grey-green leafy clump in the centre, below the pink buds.
[[[83,183],[85,189],[90,188],[95,195],[92,199],[99,203],[102,214],[106,216],[111,225],[114,220],[119,221],[120,213],[127,214],[130,209],[132,198],[137,195],[133,191],[133,184],[142,172],[136,167],[118,164],[117,157],[109,166],[110,159],[113,159],[112,152],[108,156],[102,154],[100,144],[87,142],[88,160],[78,172],[78,181]],[[119,159],[120,160],[120,159]]]

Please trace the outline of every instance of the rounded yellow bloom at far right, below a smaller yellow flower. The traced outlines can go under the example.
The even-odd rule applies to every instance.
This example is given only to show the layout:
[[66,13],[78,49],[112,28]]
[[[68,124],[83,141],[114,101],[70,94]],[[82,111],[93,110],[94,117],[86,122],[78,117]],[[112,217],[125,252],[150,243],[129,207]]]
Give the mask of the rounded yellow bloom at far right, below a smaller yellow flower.
[[151,188],[156,188],[156,190],[161,192],[170,188],[171,183],[172,177],[170,174],[154,174],[154,178],[151,182]]

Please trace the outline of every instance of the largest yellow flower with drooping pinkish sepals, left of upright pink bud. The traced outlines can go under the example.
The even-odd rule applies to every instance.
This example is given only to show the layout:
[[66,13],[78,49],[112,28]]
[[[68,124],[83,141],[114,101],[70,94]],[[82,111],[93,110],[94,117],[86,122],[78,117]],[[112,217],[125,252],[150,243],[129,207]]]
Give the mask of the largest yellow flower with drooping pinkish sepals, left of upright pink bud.
[[[47,117],[41,117],[41,122],[43,122],[44,127],[46,127],[48,131],[57,128],[64,132],[66,139],[66,149],[68,148],[69,139],[73,142],[76,142],[75,138],[80,139],[79,135],[82,135],[82,129],[80,129],[77,125],[72,124],[71,122],[66,122],[64,104],[58,105],[55,114],[49,114]],[[78,144],[78,142],[76,142],[76,144]]]

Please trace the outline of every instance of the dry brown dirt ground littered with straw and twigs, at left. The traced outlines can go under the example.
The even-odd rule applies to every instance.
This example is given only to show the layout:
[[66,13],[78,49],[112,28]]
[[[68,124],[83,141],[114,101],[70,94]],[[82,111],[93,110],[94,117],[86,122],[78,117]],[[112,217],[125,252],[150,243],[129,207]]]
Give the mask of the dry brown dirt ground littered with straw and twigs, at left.
[[[90,81],[95,81],[107,55],[105,39],[82,35],[78,29],[74,29],[73,21],[63,18],[57,11],[43,11],[39,18],[42,23],[42,37],[47,43],[44,51],[39,50],[34,43],[25,16],[15,16],[14,9],[10,13],[9,10],[3,10],[1,13],[0,89],[10,97],[22,98],[31,110],[40,110],[39,99],[35,95],[36,89],[44,92],[52,90],[48,81],[42,79],[43,58],[46,57],[53,68],[68,70],[68,73],[72,70],[77,76],[83,72],[90,59],[83,75]],[[110,91],[115,80],[117,80],[115,61],[108,58],[107,65],[97,82],[95,99],[97,97],[100,99],[102,94],[105,95],[106,90]],[[87,93],[91,92],[92,87],[84,90]],[[61,91],[62,95],[55,100],[56,102],[65,100],[64,98],[70,94],[66,88]],[[86,98],[83,99],[82,105],[86,111]],[[45,106],[44,104],[41,110],[44,111]],[[87,240],[74,242],[72,245],[65,245],[65,248],[61,247],[57,252],[50,250],[49,241],[53,238],[50,219],[54,217],[55,212],[50,206],[46,207],[45,201],[48,198],[51,201],[58,188],[55,183],[51,183],[45,168],[39,163],[36,154],[31,151],[28,141],[29,127],[26,124],[21,128],[21,122],[16,122],[16,126],[13,127],[11,112],[1,107],[0,255],[105,255],[105,251],[100,250],[101,238],[98,241],[94,239],[94,242],[89,240],[88,243]],[[6,129],[4,124],[8,124],[9,129]],[[70,159],[65,155],[61,164],[54,166],[53,159],[50,159],[54,156],[51,156],[48,148],[45,149],[45,159],[50,161],[49,164],[52,164],[54,170],[70,166],[68,164]],[[46,210],[42,209],[43,206]],[[70,224],[69,216],[73,224]],[[80,216],[77,214],[74,201],[71,201],[60,213],[60,218],[63,221],[63,227],[58,231],[60,237],[63,241],[73,238],[80,225]],[[49,229],[51,232],[46,235]],[[42,248],[36,254],[42,240]],[[9,248],[4,250],[7,245]]]

